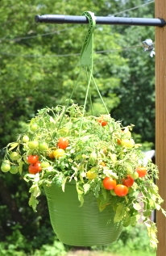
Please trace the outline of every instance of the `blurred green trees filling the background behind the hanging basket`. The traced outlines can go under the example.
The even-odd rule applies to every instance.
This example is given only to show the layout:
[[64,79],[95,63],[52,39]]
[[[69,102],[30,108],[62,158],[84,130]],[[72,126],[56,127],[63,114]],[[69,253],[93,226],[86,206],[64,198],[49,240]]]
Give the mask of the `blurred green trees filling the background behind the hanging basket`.
[[[81,15],[91,10],[95,15],[106,16],[144,2],[1,0],[1,156],[6,144],[15,141],[16,134],[39,108],[64,104],[80,69],[79,53],[88,26],[35,23],[35,15]],[[153,9],[150,4],[119,16],[151,17]],[[154,141],[154,59],[143,48],[117,50],[140,45],[148,37],[154,40],[154,28],[97,25],[93,76],[111,115],[124,124],[135,124],[135,133],[141,134],[143,141]],[[77,103],[84,101],[85,84],[83,73],[73,95]],[[98,115],[103,111],[102,103],[96,90],[91,94],[94,114]],[[32,212],[28,189],[18,174],[0,173],[0,241],[19,223],[26,241],[33,237],[32,247],[39,248],[52,241],[53,232],[45,196],[40,197],[38,212]]]

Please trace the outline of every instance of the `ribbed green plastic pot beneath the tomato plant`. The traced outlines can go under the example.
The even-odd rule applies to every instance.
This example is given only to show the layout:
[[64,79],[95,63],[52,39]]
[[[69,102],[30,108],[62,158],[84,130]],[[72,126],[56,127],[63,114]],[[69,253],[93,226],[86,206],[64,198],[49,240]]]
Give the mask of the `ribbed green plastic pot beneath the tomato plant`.
[[99,212],[98,202],[91,193],[80,207],[76,185],[66,183],[65,191],[56,184],[44,187],[52,228],[57,237],[70,246],[101,246],[116,241],[122,223],[114,224],[110,205]]

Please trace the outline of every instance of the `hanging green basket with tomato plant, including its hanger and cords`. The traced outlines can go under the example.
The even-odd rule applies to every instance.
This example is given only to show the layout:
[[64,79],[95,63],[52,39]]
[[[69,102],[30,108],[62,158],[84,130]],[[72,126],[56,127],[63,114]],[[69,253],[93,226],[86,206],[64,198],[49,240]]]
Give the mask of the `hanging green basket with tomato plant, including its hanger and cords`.
[[[94,15],[85,12],[89,31],[81,50],[85,70],[85,103],[73,103],[80,73],[65,106],[44,108],[31,119],[16,142],[6,146],[2,171],[22,174],[31,182],[29,205],[36,211],[44,188],[52,228],[71,246],[105,245],[116,241],[122,226],[135,226],[142,217],[151,246],[156,247],[156,225],[150,219],[160,207],[157,166],[146,159],[132,138],[133,126],[122,127],[110,117],[93,78]],[[106,113],[93,115],[91,86],[98,91]],[[89,102],[91,115],[86,112]]]

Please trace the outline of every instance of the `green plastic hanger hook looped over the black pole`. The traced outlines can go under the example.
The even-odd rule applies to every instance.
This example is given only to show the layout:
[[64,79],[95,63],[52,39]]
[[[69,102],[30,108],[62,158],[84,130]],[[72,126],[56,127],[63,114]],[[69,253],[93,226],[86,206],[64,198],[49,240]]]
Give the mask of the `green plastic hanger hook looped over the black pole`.
[[93,31],[96,26],[96,20],[93,12],[85,11],[83,15],[89,20],[89,30],[85,37],[84,44],[81,49],[81,66],[93,69]]

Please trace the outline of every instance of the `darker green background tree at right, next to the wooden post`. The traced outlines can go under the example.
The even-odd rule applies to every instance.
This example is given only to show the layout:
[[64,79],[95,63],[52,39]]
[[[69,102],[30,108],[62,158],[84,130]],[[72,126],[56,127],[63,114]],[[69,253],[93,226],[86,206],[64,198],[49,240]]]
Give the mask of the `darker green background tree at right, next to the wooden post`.
[[[126,1],[124,9],[139,6],[147,1]],[[130,10],[122,15],[125,17],[154,18],[154,2],[136,10]],[[121,86],[114,91],[120,97],[120,104],[111,114],[120,119],[123,124],[135,124],[134,132],[141,135],[141,141],[155,143],[155,57],[144,52],[143,40],[155,40],[155,27],[114,26],[114,31],[122,32],[124,42],[122,57],[128,58],[128,73],[121,73]],[[133,47],[133,48],[132,48]],[[140,140],[140,136],[137,136]]]

